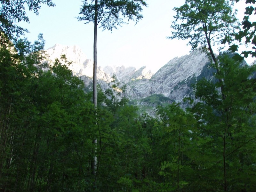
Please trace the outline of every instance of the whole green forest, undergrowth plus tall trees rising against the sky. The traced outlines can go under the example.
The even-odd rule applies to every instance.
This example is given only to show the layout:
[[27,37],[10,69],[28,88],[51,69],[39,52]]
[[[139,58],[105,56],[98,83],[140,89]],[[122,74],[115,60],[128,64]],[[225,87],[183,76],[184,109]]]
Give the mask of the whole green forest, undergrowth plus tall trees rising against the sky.
[[[20,38],[25,5],[40,14],[40,4],[54,0],[1,0],[0,191],[255,191],[256,66],[243,59],[256,56],[256,7],[246,0],[238,23],[237,1],[174,8],[168,38],[200,46],[214,73],[198,79],[183,103],[160,105],[151,116],[121,97],[125,85],[115,78],[103,91],[95,71],[88,90],[65,55],[44,62],[42,34],[34,43]],[[146,0],[84,1],[77,19],[94,23],[94,67],[97,28],[139,22],[143,6]],[[240,44],[252,50],[238,54]],[[217,55],[213,45],[229,49]]]

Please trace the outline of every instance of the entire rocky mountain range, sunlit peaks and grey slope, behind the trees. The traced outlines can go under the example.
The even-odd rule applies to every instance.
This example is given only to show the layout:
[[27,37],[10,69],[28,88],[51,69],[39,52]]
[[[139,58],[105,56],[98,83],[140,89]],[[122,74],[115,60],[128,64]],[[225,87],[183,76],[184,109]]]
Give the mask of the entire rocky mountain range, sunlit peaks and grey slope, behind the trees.
[[[86,86],[92,87],[93,61],[87,59],[77,46],[56,44],[46,50],[49,61],[65,54],[72,64],[69,66],[74,75],[80,76]],[[124,95],[137,104],[158,105],[159,102],[181,102],[191,94],[190,85],[202,76],[209,76],[209,63],[206,53],[197,49],[188,55],[176,57],[153,74],[147,67],[106,66],[98,67],[98,83],[103,90],[110,86],[115,74],[121,84],[126,84]]]

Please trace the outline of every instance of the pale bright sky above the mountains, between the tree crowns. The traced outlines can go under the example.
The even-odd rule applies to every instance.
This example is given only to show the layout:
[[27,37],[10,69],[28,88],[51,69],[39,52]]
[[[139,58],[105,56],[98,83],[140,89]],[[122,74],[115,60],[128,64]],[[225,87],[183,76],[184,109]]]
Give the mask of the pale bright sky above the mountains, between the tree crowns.
[[[79,16],[82,0],[52,0],[56,6],[42,5],[39,16],[27,12],[29,23],[19,25],[27,28],[25,37],[34,42],[39,33],[43,34],[45,49],[55,44],[81,48],[87,59],[93,59],[93,23],[84,24],[76,19]],[[136,25],[134,21],[123,24],[118,29],[102,31],[98,28],[97,65],[140,67],[147,66],[156,72],[174,57],[189,54],[191,47],[188,40],[167,39],[171,36],[171,24],[174,7],[180,7],[185,0],[146,0],[148,7],[143,7],[144,18]],[[235,4],[238,18],[243,18],[243,1]],[[254,58],[247,59],[251,63]]]

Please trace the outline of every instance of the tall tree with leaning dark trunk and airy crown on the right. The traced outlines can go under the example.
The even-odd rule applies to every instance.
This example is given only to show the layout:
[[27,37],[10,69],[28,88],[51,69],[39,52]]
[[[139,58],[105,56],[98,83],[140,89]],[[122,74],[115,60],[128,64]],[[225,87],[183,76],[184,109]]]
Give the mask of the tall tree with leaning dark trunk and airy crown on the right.
[[[174,17],[176,20],[172,24],[174,31],[171,39],[189,39],[192,49],[196,49],[198,45],[208,47],[210,58],[212,59],[212,68],[216,70],[215,77],[218,80],[221,97],[218,100],[217,91],[212,99],[215,100],[213,104],[216,105],[219,101],[222,103],[229,102],[230,93],[226,91],[226,77],[223,76],[223,63],[230,63],[228,61],[220,61],[213,52],[212,45],[220,43],[231,43],[235,38],[237,26],[237,19],[235,17],[236,11],[232,10],[234,2],[228,0],[186,0],[185,4],[179,8],[174,8],[177,12]],[[234,76],[230,79],[233,81]],[[201,92],[199,92],[201,94]],[[202,99],[202,98],[200,98]],[[221,132],[223,133],[223,172],[224,172],[224,190],[228,190],[227,182],[227,146],[228,146],[228,131],[230,130],[230,122],[226,121],[225,117],[230,111],[227,105],[222,106],[223,113],[221,118]],[[227,118],[228,119],[228,118]],[[229,119],[228,119],[229,120]]]

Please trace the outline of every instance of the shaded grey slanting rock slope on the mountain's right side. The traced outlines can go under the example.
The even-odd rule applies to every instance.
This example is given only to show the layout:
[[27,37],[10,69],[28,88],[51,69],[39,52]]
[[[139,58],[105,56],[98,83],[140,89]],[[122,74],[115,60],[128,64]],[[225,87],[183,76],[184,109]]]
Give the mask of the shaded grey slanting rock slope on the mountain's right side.
[[152,94],[163,94],[180,102],[191,92],[190,81],[201,74],[208,62],[206,53],[200,50],[176,57],[160,68],[150,80],[131,81],[127,96],[143,98]]

